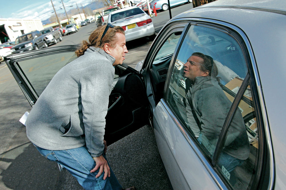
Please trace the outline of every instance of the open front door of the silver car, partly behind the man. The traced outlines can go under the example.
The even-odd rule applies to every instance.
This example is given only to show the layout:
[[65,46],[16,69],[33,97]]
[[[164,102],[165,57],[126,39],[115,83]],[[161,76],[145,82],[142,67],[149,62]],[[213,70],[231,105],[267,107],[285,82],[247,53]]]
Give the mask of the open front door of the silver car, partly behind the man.
[[[31,106],[57,71],[77,58],[74,53],[77,48],[75,45],[57,46],[5,58]],[[126,65],[116,66],[104,139],[108,145],[112,144],[148,122],[148,100],[138,72]]]

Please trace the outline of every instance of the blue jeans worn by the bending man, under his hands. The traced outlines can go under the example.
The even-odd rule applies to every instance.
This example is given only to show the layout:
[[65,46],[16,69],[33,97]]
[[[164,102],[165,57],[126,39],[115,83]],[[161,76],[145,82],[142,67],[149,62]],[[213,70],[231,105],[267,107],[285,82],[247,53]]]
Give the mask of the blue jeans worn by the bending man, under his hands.
[[[104,172],[102,172],[100,177],[95,177],[99,172],[99,169],[90,173],[90,170],[96,166],[96,163],[86,146],[68,150],[46,150],[36,145],[35,147],[41,155],[45,156],[48,160],[55,161],[67,169],[74,177],[76,177],[78,183],[80,183],[84,189],[118,190],[122,188],[109,164],[110,177],[107,177],[106,180],[103,179]],[[106,156],[103,156],[106,159]]]

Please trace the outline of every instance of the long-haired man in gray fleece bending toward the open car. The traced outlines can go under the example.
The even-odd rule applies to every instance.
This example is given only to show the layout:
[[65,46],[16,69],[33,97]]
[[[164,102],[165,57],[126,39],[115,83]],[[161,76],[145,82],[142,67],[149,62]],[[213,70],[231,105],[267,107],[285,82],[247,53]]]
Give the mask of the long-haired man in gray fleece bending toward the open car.
[[76,50],[78,58],[55,74],[25,123],[37,150],[84,189],[122,188],[105,157],[104,128],[113,67],[125,59],[125,44],[120,26],[94,30]]

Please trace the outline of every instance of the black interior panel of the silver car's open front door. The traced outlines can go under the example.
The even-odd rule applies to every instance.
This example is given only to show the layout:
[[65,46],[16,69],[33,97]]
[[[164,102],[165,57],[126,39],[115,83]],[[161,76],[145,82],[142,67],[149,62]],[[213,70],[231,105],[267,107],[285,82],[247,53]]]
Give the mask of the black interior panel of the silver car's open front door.
[[108,107],[104,136],[108,145],[147,124],[148,101],[140,77],[134,73],[119,77]]

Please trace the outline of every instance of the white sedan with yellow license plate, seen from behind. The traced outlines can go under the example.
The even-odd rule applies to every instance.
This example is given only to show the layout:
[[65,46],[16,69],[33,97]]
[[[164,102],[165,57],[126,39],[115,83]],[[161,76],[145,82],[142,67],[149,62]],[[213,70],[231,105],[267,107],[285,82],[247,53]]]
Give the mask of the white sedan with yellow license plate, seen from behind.
[[155,38],[152,19],[139,7],[128,7],[109,13],[108,23],[125,30],[126,42],[142,37]]

